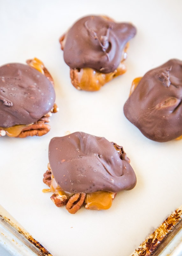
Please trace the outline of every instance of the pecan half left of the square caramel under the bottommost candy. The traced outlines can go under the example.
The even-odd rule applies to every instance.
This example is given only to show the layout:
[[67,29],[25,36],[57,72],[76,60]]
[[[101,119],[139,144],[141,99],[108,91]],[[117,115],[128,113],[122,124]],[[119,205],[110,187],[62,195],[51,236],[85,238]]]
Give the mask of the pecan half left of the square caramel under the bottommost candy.
[[77,193],[71,196],[66,204],[66,210],[72,214],[76,213],[84,204],[85,196],[85,193]]

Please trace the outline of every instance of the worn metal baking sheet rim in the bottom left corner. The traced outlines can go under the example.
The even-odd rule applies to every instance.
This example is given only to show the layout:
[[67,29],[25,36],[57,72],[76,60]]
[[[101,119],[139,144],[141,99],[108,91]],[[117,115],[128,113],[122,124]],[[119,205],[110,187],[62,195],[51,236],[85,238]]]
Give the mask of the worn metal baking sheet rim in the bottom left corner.
[[0,244],[12,255],[52,256],[1,205]]

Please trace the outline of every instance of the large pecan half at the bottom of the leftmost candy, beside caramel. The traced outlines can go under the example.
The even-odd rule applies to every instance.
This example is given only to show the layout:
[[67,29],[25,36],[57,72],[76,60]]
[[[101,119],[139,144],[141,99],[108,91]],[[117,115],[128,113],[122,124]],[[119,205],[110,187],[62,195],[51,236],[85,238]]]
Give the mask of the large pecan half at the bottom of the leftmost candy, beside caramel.
[[27,136],[42,136],[50,131],[50,125],[40,123],[40,124],[32,124],[25,127],[21,133],[17,136],[19,138],[25,138]]

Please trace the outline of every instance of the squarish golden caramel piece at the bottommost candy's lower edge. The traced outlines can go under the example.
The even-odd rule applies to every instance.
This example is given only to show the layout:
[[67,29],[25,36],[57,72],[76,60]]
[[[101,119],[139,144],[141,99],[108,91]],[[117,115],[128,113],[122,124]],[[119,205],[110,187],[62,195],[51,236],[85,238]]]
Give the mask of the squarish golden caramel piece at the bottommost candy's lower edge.
[[88,210],[107,210],[111,207],[114,193],[108,191],[97,191],[86,194],[85,208]]

